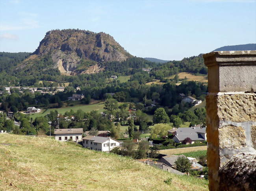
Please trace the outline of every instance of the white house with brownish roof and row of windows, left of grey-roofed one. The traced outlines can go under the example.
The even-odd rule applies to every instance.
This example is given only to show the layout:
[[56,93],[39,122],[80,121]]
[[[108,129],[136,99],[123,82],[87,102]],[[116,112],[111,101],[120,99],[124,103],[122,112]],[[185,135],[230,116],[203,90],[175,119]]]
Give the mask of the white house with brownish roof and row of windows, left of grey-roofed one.
[[79,141],[82,140],[83,128],[75,129],[54,129],[55,140],[58,141]]

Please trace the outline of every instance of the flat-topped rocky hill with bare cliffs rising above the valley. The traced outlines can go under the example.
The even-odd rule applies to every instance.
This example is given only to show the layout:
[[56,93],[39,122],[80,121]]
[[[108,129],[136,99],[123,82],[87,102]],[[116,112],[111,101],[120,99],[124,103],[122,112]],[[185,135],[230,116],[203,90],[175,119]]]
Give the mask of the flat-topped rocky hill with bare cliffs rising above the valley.
[[66,75],[95,73],[104,70],[101,63],[122,62],[133,57],[106,33],[79,29],[52,30],[46,33],[35,52],[17,69],[29,68],[36,60],[49,55],[53,64],[48,68],[58,68]]

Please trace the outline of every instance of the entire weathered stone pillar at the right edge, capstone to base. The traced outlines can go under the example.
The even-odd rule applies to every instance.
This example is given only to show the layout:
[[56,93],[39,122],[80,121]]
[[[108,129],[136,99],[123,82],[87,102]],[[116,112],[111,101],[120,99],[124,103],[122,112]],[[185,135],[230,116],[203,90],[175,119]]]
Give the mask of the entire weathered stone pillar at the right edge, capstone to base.
[[256,190],[256,51],[203,55],[210,191]]

